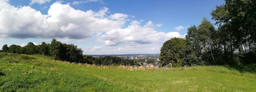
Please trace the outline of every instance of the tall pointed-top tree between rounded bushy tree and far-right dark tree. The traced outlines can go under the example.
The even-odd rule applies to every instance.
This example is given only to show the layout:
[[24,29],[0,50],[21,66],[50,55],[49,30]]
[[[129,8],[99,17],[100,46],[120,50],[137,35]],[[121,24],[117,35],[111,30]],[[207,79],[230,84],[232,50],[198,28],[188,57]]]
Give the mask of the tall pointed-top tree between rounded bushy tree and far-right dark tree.
[[215,62],[213,39],[216,30],[207,18],[201,24],[188,28],[186,35],[186,61],[190,64],[205,65]]

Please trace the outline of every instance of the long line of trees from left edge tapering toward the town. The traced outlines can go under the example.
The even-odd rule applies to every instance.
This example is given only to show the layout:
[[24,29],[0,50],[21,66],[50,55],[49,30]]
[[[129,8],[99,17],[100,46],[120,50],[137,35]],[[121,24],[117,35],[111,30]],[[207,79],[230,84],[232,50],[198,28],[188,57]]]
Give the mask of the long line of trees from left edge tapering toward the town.
[[7,44],[2,46],[2,52],[17,54],[41,54],[52,56],[52,60],[69,61],[74,63],[88,63],[95,65],[135,65],[137,61],[117,56],[92,57],[83,55],[83,50],[74,44],[66,44],[52,39],[51,44],[42,42],[40,45],[27,43],[24,47]]

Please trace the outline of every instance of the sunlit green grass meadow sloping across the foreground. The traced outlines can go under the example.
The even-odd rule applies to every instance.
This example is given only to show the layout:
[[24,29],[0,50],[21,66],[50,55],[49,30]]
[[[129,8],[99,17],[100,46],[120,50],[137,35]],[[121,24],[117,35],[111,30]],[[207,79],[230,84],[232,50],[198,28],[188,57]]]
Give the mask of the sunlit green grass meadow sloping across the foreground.
[[256,74],[225,66],[163,71],[0,53],[0,92],[256,92]]

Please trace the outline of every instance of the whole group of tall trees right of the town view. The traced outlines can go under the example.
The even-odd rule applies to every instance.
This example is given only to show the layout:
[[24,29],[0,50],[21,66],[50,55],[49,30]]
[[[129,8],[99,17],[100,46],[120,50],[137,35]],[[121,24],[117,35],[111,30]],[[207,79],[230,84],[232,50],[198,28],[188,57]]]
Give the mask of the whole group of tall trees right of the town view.
[[188,28],[182,38],[167,40],[159,56],[167,65],[248,65],[256,64],[256,2],[225,0],[211,12],[215,26],[203,18]]

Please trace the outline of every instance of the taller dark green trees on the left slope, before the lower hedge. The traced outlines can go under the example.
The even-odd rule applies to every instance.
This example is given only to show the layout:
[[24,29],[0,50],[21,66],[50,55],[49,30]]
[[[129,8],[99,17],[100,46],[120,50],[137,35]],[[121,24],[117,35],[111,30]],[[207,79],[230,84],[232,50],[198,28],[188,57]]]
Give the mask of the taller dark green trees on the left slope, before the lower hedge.
[[[4,51],[8,48],[7,45],[3,46]],[[52,39],[51,44],[42,42],[41,45],[34,45],[34,43],[27,43],[25,47],[19,45],[11,45],[8,50],[10,53],[18,54],[43,54],[52,55],[53,60],[70,61],[76,63],[85,63],[83,57],[83,50],[74,44],[63,44],[56,39]]]

